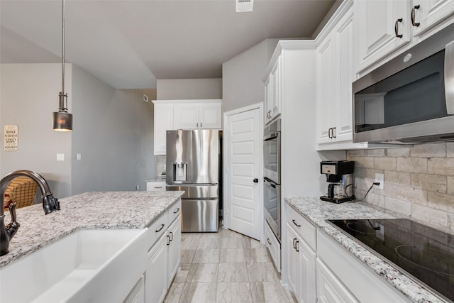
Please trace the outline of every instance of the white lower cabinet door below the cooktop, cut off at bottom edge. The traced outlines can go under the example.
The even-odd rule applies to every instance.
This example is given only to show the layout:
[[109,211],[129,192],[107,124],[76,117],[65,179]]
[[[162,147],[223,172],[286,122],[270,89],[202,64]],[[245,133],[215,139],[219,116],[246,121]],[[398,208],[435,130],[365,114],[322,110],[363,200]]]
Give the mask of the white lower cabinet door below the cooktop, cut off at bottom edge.
[[317,298],[322,303],[358,302],[320,259],[317,259]]

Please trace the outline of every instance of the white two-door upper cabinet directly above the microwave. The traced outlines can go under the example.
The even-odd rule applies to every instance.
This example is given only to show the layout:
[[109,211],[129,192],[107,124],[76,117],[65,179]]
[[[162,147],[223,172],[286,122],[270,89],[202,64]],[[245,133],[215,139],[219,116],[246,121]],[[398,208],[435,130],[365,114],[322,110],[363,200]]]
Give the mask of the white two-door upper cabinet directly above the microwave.
[[453,23],[452,0],[355,1],[358,74],[383,62]]

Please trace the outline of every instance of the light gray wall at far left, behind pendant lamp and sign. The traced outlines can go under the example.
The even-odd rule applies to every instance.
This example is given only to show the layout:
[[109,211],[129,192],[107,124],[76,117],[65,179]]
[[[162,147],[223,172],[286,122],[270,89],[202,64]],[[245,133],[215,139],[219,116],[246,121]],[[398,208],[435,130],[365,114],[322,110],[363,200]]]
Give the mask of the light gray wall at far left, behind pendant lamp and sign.
[[[58,111],[61,90],[60,64],[0,65],[0,175],[14,170],[33,170],[49,183],[55,197],[71,194],[72,133],[52,131],[52,111]],[[71,83],[71,65],[65,66]],[[65,87],[70,111],[71,86]],[[18,151],[4,150],[4,126],[18,125]],[[65,155],[57,161],[57,153]]]

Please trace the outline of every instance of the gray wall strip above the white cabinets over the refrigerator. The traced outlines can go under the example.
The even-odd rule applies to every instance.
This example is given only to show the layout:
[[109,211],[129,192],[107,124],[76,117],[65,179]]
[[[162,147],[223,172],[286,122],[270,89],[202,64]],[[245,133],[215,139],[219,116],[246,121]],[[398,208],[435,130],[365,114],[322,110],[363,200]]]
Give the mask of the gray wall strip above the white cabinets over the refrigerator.
[[158,79],[157,100],[222,99],[222,79]]

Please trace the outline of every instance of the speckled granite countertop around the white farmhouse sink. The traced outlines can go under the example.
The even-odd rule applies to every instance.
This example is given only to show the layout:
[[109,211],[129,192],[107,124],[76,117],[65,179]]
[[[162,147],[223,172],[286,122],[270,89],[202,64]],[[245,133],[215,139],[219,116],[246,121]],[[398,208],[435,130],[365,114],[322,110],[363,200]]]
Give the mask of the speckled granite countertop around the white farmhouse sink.
[[[16,210],[21,224],[0,256],[0,268],[78,229],[145,228],[184,192],[87,192],[60,200],[60,211],[44,214],[42,204]],[[6,212],[5,224],[11,221]]]

